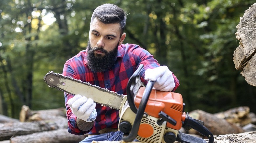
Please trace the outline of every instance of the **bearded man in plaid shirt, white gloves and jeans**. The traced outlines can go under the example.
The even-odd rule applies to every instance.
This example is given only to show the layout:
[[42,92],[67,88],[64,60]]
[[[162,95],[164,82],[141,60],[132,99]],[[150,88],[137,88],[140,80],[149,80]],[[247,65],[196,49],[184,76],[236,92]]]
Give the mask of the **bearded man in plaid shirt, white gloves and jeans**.
[[[65,63],[63,75],[126,95],[129,78],[143,64],[140,76],[144,84],[153,80],[157,90],[174,91],[179,81],[166,66],[160,66],[139,45],[122,44],[126,36],[125,23],[126,14],[116,5],[97,7],[90,22],[87,49]],[[67,93],[65,105],[68,131],[75,135],[89,134],[82,142],[122,139],[122,132],[117,131],[118,110],[102,107],[81,95]]]

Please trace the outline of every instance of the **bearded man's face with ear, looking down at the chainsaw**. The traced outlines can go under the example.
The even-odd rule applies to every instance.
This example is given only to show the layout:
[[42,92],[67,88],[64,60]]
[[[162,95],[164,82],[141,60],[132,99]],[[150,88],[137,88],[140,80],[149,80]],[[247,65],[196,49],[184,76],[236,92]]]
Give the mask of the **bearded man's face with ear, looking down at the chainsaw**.
[[87,65],[93,72],[104,72],[113,66],[118,45],[122,44],[125,33],[120,37],[118,23],[104,24],[95,18],[90,25]]

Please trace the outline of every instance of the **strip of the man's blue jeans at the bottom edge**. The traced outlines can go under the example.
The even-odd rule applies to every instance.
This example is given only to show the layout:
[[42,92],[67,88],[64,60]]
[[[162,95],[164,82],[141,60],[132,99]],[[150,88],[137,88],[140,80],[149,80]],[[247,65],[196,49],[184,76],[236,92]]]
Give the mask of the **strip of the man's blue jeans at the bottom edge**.
[[[122,137],[123,137],[123,132],[121,131],[108,132],[105,134],[88,136],[84,140],[82,140],[80,143],[91,143],[92,141],[120,141],[122,140]],[[138,141],[138,140],[135,139],[134,141]]]

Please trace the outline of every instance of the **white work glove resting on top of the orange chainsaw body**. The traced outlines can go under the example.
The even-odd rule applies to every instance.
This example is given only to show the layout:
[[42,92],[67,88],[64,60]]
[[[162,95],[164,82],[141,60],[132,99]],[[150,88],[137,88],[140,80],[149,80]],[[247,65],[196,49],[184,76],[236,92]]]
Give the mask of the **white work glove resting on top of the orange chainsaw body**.
[[160,66],[154,69],[146,69],[145,80],[156,81],[154,88],[160,91],[169,92],[175,87],[172,72],[167,66]]

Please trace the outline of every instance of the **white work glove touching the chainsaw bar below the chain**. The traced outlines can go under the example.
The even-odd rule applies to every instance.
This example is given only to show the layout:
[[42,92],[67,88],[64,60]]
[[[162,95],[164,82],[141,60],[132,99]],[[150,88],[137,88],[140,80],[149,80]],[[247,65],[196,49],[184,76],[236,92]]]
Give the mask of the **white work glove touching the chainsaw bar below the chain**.
[[96,103],[93,102],[91,98],[81,96],[79,94],[75,95],[73,98],[68,100],[68,105],[71,111],[79,119],[86,122],[92,122],[97,117],[97,112],[95,109]]

